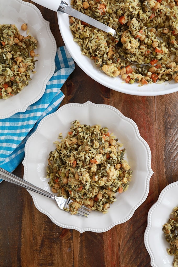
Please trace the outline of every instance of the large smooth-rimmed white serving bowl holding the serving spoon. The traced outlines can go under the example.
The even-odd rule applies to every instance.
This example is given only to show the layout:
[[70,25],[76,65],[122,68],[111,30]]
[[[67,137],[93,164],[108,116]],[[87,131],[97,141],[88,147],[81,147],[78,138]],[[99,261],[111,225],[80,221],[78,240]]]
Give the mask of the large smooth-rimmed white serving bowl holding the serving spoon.
[[[70,0],[65,2],[70,5]],[[121,93],[138,96],[157,96],[178,91],[178,86],[174,81],[162,84],[147,84],[139,87],[138,83],[124,83],[120,76],[115,78],[107,76],[96,67],[93,60],[81,54],[80,46],[73,41],[73,35],[69,28],[69,15],[58,13],[58,23],[64,43],[74,61],[88,76],[98,83]]]

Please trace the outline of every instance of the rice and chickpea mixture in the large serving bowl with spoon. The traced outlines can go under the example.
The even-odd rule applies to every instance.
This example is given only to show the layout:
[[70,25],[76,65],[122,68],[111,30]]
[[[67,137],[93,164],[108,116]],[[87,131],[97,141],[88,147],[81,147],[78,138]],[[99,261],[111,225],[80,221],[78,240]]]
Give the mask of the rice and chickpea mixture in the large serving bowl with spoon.
[[[98,68],[111,77],[120,75],[126,83],[142,86],[172,79],[178,82],[177,3],[177,0],[72,0],[74,9],[117,32],[114,38],[70,17],[73,40]],[[133,61],[148,65],[136,65]]]

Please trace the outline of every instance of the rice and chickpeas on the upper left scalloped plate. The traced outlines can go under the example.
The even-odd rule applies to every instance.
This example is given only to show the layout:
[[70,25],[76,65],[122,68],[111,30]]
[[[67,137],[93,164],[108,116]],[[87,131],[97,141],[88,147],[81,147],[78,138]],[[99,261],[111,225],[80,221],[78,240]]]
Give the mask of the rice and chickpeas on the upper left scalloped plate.
[[[27,29],[26,23],[21,29]],[[13,24],[0,25],[0,99],[17,95],[29,84],[36,48],[33,36],[24,37]]]

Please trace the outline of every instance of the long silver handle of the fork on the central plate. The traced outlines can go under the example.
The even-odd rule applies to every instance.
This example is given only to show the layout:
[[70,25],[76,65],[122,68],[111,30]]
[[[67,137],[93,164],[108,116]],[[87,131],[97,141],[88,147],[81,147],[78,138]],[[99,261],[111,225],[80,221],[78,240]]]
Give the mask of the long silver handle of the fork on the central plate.
[[49,192],[35,186],[34,184],[27,182],[24,179],[19,178],[18,176],[14,175],[13,173],[8,172],[2,168],[0,168],[0,178],[7,181],[7,182],[17,184],[18,186],[29,189],[33,192],[39,193],[43,196],[55,199],[55,196],[53,194],[50,194]]

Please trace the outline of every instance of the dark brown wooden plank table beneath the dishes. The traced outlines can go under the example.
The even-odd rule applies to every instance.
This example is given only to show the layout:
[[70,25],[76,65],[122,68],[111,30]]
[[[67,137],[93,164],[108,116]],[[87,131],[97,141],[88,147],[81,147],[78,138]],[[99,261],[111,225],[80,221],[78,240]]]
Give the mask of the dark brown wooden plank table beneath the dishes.
[[[57,13],[33,4],[50,22],[57,47],[64,45]],[[148,197],[127,222],[105,233],[81,234],[55,225],[36,209],[26,189],[3,181],[0,184],[0,267],[151,266],[144,245],[147,214],[161,190],[178,177],[178,92],[155,97],[116,92],[94,81],[77,64],[61,90],[65,98],[60,106],[90,100],[112,105],[136,122],[152,152],[154,174]],[[22,163],[13,173],[23,178]]]

